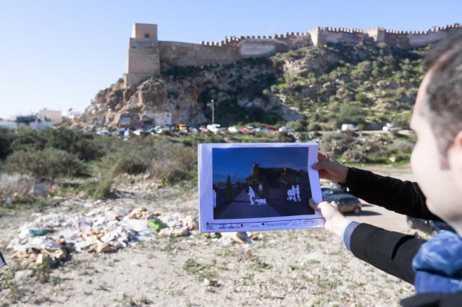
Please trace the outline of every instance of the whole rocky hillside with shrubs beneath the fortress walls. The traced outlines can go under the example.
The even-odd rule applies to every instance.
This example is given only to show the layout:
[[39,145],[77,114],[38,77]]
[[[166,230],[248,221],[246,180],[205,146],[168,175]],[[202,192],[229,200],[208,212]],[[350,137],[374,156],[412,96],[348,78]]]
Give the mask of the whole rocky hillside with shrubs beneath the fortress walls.
[[332,130],[343,122],[407,126],[426,50],[338,43],[309,46],[230,65],[176,67],[124,89],[122,79],[97,93],[80,124],[117,127],[210,122],[223,125],[299,121]]

